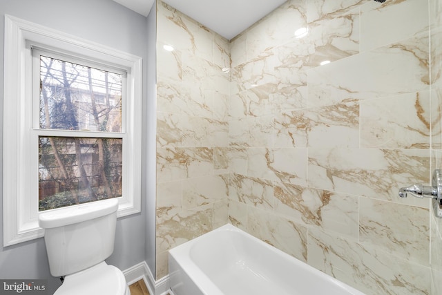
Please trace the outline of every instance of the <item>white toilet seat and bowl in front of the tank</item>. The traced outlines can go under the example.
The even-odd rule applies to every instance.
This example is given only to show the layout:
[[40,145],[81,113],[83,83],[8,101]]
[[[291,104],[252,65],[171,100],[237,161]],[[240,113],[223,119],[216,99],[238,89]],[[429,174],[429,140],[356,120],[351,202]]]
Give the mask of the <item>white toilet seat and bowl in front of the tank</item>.
[[64,278],[54,295],[130,295],[121,270],[104,261]]

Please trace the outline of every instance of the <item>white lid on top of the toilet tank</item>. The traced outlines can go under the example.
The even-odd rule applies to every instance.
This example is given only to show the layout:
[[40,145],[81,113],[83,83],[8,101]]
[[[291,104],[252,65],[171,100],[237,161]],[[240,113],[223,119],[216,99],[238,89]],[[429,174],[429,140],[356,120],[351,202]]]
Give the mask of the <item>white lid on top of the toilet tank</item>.
[[39,226],[44,229],[64,227],[111,214],[117,209],[117,198],[52,209],[39,213]]

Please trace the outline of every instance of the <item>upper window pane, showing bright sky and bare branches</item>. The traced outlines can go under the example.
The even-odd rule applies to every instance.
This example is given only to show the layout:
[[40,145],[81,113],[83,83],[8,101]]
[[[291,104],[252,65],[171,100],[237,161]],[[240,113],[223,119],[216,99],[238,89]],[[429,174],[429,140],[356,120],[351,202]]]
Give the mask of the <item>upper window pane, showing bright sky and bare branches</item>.
[[40,57],[40,128],[122,132],[122,75]]

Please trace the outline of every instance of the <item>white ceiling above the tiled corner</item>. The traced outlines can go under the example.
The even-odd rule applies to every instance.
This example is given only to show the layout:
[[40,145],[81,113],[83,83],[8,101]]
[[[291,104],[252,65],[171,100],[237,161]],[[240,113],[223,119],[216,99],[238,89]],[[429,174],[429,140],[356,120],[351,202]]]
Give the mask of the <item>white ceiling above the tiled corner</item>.
[[[155,0],[113,0],[148,15]],[[202,25],[232,39],[287,0],[163,0]]]

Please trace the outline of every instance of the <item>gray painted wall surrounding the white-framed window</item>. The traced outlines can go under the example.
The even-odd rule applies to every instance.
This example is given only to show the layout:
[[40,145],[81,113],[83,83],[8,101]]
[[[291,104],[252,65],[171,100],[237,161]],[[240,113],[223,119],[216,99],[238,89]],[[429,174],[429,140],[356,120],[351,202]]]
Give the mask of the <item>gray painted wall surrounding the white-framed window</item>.
[[[6,14],[142,57],[143,97],[147,97],[148,33],[152,34],[155,29],[151,28],[152,23],[148,23],[146,17],[111,0],[0,0],[0,116],[3,114],[3,35],[4,15]],[[149,37],[149,41],[152,40],[155,41]],[[151,48],[155,48],[155,45],[151,45]],[[3,119],[0,120],[0,126],[0,130],[3,131]],[[143,132],[145,131],[144,128]],[[0,136],[0,141],[2,142],[0,146],[3,146],[3,135]],[[0,164],[3,167],[3,161]],[[3,169],[1,173],[4,173]],[[145,179],[146,175],[148,174],[144,173]],[[1,179],[0,175],[0,181]],[[149,247],[152,245],[146,247],[146,240],[151,240],[146,234],[146,216],[151,216],[151,214],[146,214],[148,206],[145,196],[146,190],[142,197],[142,213],[120,218],[117,222],[115,251],[107,262],[119,269],[127,269],[144,260],[153,260],[153,265],[155,265],[155,249],[151,258],[148,256],[151,255],[152,250],[149,250]],[[155,202],[155,197],[151,199]],[[155,218],[155,211],[153,211],[153,217]],[[153,220],[155,222],[155,219]],[[0,223],[0,238],[3,241],[2,202],[0,202]],[[152,233],[150,230],[149,233],[153,234],[152,240],[155,240],[155,232]],[[3,247],[3,242],[1,242],[0,278],[48,278],[50,294],[55,292],[61,284],[58,278],[50,275],[46,247],[42,238],[11,247]]]

